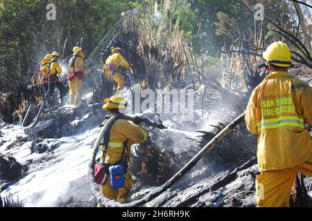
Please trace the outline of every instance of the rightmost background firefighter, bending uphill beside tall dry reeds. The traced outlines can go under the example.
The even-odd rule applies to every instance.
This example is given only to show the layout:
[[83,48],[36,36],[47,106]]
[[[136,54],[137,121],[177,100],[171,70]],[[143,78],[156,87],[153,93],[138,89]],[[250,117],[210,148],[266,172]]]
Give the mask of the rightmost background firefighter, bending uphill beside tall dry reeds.
[[105,66],[103,66],[102,72],[105,77],[110,78],[117,83],[116,93],[119,93],[123,89],[125,84],[125,77],[119,70],[120,66],[125,68],[125,70],[130,70],[130,65],[121,55],[121,48],[113,48],[112,55],[108,57],[105,61]]

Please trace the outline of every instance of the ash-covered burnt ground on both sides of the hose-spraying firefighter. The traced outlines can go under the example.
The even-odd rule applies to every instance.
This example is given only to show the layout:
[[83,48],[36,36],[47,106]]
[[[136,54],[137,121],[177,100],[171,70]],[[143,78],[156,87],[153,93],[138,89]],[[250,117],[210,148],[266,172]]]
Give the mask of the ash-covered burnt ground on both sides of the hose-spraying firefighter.
[[[208,99],[209,106],[214,108],[195,110],[192,122],[164,115],[161,119],[168,129],[150,131],[149,153],[162,155],[160,161],[164,163],[159,164],[162,170],[151,171],[155,162],[142,161],[146,144],[132,146],[132,157],[137,162],[130,168],[134,175],[132,201],[168,180],[241,113],[237,108],[234,110],[230,99],[222,102],[216,97]],[[245,106],[244,102],[241,106]],[[155,115],[148,117],[153,120]],[[74,135],[44,139],[40,150],[34,151],[33,141],[19,123],[1,122],[0,163],[16,160],[17,165],[15,177],[6,177],[1,171],[1,197],[12,195],[24,206],[96,206],[86,175],[98,126],[94,120],[86,121]],[[256,146],[257,136],[250,134],[244,123],[239,124],[191,171],[144,206],[256,206]],[[172,164],[164,165],[166,160]],[[304,177],[304,181],[312,198],[312,179]]]

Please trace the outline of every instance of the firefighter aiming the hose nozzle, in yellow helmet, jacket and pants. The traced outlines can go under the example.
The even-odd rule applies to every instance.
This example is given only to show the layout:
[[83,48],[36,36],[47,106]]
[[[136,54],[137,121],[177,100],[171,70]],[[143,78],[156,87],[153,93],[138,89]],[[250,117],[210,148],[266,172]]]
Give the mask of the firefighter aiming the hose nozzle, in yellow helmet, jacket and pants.
[[[110,111],[111,115],[123,114],[127,107],[127,102],[120,95],[114,95],[110,99],[104,100],[106,104],[103,105],[104,110]],[[121,160],[123,154],[123,144],[125,142],[128,145],[124,151],[124,164],[127,165],[130,160],[131,146],[132,144],[139,144],[146,141],[148,133],[144,126],[137,126],[130,123],[126,119],[117,119],[110,131],[110,139],[107,145],[107,152],[105,154],[105,164],[114,164]],[[126,143],[126,144],[127,144]],[[104,151],[104,146],[102,146]],[[103,160],[103,159],[102,159]],[[125,166],[127,167],[127,166]],[[113,189],[110,186],[110,175],[107,178],[101,188],[101,193],[110,200],[125,203],[130,199],[130,190],[132,188],[132,175],[128,168],[125,168],[125,187],[121,189]],[[101,207],[98,204],[98,207]]]

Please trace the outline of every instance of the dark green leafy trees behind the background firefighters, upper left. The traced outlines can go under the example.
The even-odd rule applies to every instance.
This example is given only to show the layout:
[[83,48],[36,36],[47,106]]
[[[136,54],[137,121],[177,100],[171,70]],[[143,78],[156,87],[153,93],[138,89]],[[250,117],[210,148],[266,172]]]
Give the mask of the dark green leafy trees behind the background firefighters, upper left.
[[[71,55],[73,46],[90,53],[135,1],[54,1],[56,20],[46,19],[47,0],[1,1],[0,90],[12,90],[40,68],[44,55],[58,50]],[[64,58],[62,57],[62,58]],[[10,83],[10,84],[8,84]]]

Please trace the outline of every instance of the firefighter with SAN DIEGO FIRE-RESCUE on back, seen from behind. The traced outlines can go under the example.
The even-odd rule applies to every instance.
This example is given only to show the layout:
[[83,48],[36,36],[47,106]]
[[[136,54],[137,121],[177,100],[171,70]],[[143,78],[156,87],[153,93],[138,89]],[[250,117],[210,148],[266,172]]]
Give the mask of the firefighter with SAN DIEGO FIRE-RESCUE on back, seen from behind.
[[312,176],[312,88],[292,77],[291,51],[281,41],[263,52],[269,75],[257,86],[246,108],[245,122],[258,135],[258,206],[289,206],[297,173]]

